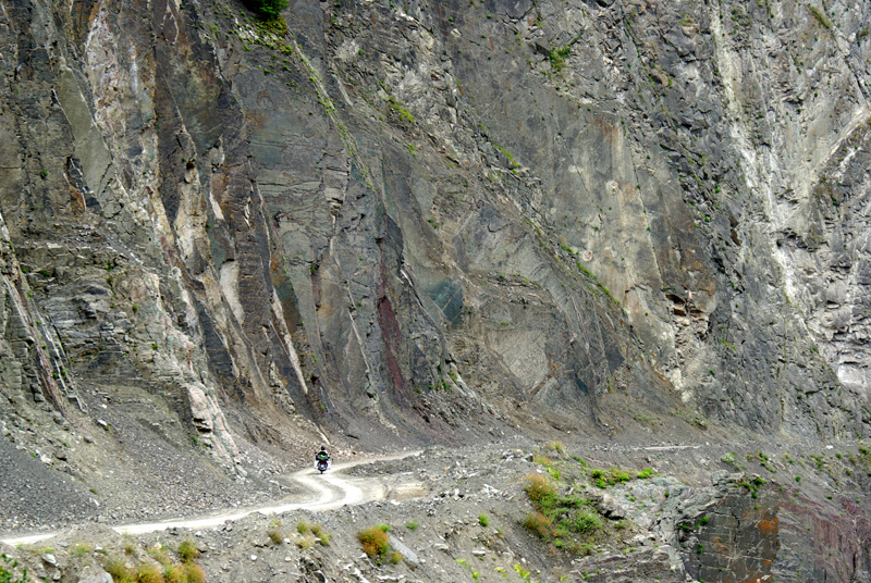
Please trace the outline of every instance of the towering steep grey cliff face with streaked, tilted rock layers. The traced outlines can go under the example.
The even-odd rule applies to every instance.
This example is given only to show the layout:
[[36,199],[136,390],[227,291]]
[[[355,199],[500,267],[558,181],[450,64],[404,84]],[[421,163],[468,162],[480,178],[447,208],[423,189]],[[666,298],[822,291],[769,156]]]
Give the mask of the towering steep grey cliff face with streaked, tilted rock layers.
[[4,419],[868,435],[871,8],[751,4],[3,4]]

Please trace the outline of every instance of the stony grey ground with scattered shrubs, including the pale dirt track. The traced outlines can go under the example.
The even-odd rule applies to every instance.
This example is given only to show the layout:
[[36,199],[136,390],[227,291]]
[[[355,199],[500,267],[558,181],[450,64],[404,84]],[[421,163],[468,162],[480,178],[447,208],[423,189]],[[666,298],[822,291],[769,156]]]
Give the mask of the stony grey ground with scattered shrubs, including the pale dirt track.
[[[136,535],[86,523],[39,543],[5,546],[4,550],[27,565],[32,574],[68,582],[106,576],[102,573],[110,559],[121,559],[131,569],[157,565],[165,557],[179,562],[177,549],[184,541],[199,549],[197,562],[210,582],[575,581],[587,572],[585,566],[606,569],[601,566],[609,563],[609,557],[638,557],[639,563],[659,569],[661,580],[668,581],[674,574],[672,565],[678,573],[683,568],[676,554],[679,549],[670,544],[662,524],[668,516],[679,513],[678,499],[689,499],[694,491],[710,486],[714,472],[743,470],[750,475],[761,471],[753,457],[760,447],[747,444],[735,451],[734,446],[715,444],[572,444],[560,451],[553,444],[522,438],[474,448],[437,447],[403,459],[345,469],[336,463],[324,476],[309,469],[303,475],[279,476],[282,495],[269,503],[272,508],[266,513],[255,511],[205,526]],[[799,446],[784,448],[787,457],[802,456]],[[732,451],[737,462],[721,460],[724,456],[728,459]],[[581,459],[587,468],[618,467],[631,472],[651,468],[659,475],[599,488],[589,480],[589,471],[581,470]],[[776,459],[787,458],[781,454]],[[532,511],[524,492],[526,476],[547,475],[551,471],[547,460],[553,462],[552,470],[563,472],[563,481],[573,476],[572,488],[577,494],[599,500],[603,528],[589,549],[590,556],[543,544],[520,524]],[[772,469],[789,471],[782,461],[769,463]],[[780,483],[786,484],[790,476],[783,475]],[[312,480],[319,485],[312,486]],[[774,484],[772,480],[772,487]],[[353,499],[355,496],[358,499]],[[824,497],[822,492],[814,496]],[[274,506],[281,504],[286,506],[275,513]],[[608,518],[608,507],[614,504],[621,509],[619,518]],[[224,513],[263,506],[231,505]],[[196,518],[198,513],[186,516]],[[320,538],[312,535],[312,525],[321,528]],[[371,559],[363,553],[357,534],[379,525],[389,526],[391,550]],[[319,543],[326,543],[327,537],[328,544]],[[402,555],[396,563],[391,562],[394,551]],[[594,569],[589,570],[594,573]]]

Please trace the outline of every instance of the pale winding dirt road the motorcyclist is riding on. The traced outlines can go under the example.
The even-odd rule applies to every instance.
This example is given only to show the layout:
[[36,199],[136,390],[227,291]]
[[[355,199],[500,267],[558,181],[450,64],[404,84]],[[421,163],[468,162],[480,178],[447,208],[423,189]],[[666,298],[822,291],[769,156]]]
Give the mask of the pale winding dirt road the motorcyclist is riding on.
[[[232,522],[241,518],[258,512],[260,514],[281,514],[293,510],[332,510],[343,506],[364,504],[371,500],[379,500],[387,497],[389,486],[385,481],[373,477],[349,477],[342,474],[343,470],[373,463],[377,461],[397,460],[412,456],[418,456],[420,451],[405,451],[391,456],[380,456],[365,460],[348,461],[336,463],[323,474],[319,474],[314,468],[306,468],[291,474],[289,480],[300,484],[306,491],[311,492],[312,496],[304,500],[284,501],[281,504],[258,506],[245,509],[224,510],[219,513],[200,516],[195,518],[180,518],[159,522],[145,522],[137,524],[121,524],[112,526],[119,534],[144,534],[169,529],[211,529],[224,522]],[[52,538],[60,534],[60,531],[39,533],[16,537],[0,537],[0,543],[7,545],[27,545]]]

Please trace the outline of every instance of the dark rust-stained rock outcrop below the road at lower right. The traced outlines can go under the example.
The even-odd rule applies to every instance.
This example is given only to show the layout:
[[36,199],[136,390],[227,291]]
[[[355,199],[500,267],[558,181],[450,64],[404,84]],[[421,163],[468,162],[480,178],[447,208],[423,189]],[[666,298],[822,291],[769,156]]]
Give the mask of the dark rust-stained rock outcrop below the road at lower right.
[[[699,581],[867,581],[868,510],[844,495],[826,496],[758,475],[716,479],[663,519]],[[813,488],[811,488],[813,489]]]

